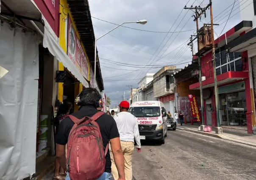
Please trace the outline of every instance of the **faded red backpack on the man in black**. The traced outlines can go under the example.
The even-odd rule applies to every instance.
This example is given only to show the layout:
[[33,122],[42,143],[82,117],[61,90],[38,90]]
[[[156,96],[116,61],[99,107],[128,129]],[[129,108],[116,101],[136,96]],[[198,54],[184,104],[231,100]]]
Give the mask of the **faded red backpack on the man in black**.
[[105,171],[106,148],[103,146],[97,120],[104,112],[92,117],[78,118],[68,115],[75,123],[67,141],[67,172],[71,180],[95,180]]

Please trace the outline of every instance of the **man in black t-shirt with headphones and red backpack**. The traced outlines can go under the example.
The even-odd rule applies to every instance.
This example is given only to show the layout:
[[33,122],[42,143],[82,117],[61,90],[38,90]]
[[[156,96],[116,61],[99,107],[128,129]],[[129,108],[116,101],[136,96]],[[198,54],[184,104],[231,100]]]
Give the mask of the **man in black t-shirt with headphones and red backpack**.
[[124,156],[117,124],[113,117],[97,110],[102,106],[100,93],[94,88],[85,88],[75,101],[81,108],[61,121],[56,135],[56,157],[67,171],[66,179],[110,180],[110,142],[118,180],[125,180]]

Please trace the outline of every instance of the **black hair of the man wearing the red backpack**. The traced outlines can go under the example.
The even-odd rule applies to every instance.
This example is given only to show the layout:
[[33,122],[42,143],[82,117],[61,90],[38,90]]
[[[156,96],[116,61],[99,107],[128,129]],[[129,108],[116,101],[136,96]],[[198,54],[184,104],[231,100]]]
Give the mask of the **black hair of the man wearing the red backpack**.
[[81,106],[99,106],[101,95],[97,89],[92,87],[86,87],[79,95],[81,100]]

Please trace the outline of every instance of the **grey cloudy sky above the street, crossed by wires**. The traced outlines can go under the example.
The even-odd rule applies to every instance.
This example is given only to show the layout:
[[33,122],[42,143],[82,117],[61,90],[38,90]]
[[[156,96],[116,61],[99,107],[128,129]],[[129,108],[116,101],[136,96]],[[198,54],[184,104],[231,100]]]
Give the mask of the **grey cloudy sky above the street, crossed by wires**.
[[[225,26],[234,0],[212,1],[214,23],[220,24],[214,27],[214,36],[217,38]],[[125,25],[140,30],[118,27],[97,41],[99,57],[103,58],[100,59],[100,65],[105,92],[113,101],[112,105],[117,105],[122,100],[124,91],[128,99],[127,85],[137,88],[139,79],[146,73],[156,73],[163,65],[183,68],[191,62],[192,52],[185,42],[195,33],[196,24],[191,17],[194,12],[183,9],[187,2],[188,0],[89,0],[96,37],[116,27],[111,23],[147,20],[146,25]],[[189,0],[187,7],[192,4],[194,7],[200,4],[205,7],[207,3],[209,0]],[[241,22],[239,11],[237,0],[223,33]],[[210,11],[206,12],[206,18],[202,17],[199,27],[210,22]],[[220,15],[217,16],[218,14]],[[175,33],[168,33],[169,31]],[[197,49],[196,46],[194,48]]]

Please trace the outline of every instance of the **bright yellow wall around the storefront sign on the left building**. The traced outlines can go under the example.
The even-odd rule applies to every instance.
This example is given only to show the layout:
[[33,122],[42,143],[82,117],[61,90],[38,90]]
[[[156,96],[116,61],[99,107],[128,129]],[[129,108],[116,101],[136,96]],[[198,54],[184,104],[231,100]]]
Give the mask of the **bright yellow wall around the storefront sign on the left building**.
[[[79,33],[76,29],[74,19],[71,15],[70,9],[68,8],[67,0],[60,0],[60,24],[59,24],[59,44],[61,48],[64,50],[64,52],[67,54],[67,37],[65,37],[65,32],[67,33],[67,14],[69,14],[70,19],[72,21],[72,24],[74,25],[75,31],[78,35],[78,38],[80,39]],[[84,49],[83,43],[81,42],[81,45],[83,47],[83,51],[86,55],[86,60],[88,61],[88,56],[86,54],[86,51]],[[61,62],[58,63],[58,70],[63,71],[64,66]],[[88,80],[90,80],[90,63],[88,61]],[[81,93],[83,90],[83,85],[81,83],[75,84],[75,97]],[[58,99],[62,102],[63,101],[63,83],[58,83]],[[74,111],[78,110],[78,106],[75,104]]]

